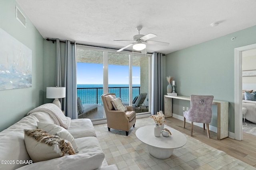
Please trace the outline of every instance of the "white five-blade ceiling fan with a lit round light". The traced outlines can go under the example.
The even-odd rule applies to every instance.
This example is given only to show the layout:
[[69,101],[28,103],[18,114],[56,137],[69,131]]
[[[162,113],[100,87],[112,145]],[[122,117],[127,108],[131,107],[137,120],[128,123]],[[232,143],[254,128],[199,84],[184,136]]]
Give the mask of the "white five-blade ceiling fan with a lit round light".
[[[157,37],[156,34],[153,33],[149,33],[147,35],[142,35],[140,34],[140,30],[142,29],[142,26],[137,26],[136,29],[139,31],[138,35],[134,35],[133,39],[123,39],[123,40],[114,40],[114,41],[134,41],[134,43],[130,43],[128,45],[126,45],[125,47],[119,49],[117,52],[120,52],[130,46],[132,46],[132,48],[136,51],[141,51],[141,53],[145,54],[146,53],[146,44],[154,44],[154,45],[163,45],[163,46],[168,46],[169,43],[164,43],[164,42],[160,42],[160,41],[152,41],[152,40],[148,40],[154,37]],[[144,50],[145,49],[145,50]]]

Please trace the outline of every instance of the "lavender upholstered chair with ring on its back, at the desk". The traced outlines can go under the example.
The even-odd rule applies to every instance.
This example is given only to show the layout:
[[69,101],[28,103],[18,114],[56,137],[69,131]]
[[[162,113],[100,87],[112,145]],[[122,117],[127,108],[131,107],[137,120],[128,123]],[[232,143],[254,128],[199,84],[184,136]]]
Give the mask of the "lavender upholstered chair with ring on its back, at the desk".
[[198,95],[191,95],[190,96],[190,109],[188,111],[184,111],[184,122],[183,128],[186,125],[186,119],[191,121],[191,136],[193,133],[193,122],[196,123],[203,123],[204,130],[205,124],[207,127],[207,135],[210,138],[210,131],[209,131],[209,123],[212,120],[212,101],[213,96],[198,96]]

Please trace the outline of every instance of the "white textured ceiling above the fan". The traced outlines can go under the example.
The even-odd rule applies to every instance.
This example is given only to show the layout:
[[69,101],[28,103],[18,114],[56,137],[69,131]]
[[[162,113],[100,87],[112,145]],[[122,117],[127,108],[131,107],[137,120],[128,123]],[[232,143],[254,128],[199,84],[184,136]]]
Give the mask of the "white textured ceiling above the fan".
[[[120,49],[154,33],[147,51],[171,53],[256,25],[256,0],[16,0],[44,38]],[[211,27],[219,22],[217,27]],[[231,37],[230,37],[231,39]],[[132,47],[128,48],[132,50]]]

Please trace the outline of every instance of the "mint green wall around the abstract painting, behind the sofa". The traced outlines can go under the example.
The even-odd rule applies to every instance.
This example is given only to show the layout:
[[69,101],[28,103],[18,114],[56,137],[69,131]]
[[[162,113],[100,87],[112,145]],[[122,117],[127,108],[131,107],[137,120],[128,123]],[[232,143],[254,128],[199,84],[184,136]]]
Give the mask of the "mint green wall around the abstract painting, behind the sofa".
[[0,1],[0,28],[32,50],[32,87],[0,90],[0,131],[44,103],[43,38],[19,6],[27,19],[26,28],[16,19],[16,5],[15,0]]

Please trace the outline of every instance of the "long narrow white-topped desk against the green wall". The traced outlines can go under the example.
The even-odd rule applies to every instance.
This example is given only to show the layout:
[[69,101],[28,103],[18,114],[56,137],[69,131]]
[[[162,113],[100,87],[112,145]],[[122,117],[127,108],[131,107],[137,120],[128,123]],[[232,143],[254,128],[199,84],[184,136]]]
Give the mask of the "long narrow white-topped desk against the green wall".
[[[164,95],[165,117],[172,117],[172,98],[190,101],[190,97],[188,96]],[[228,102],[213,100],[212,104],[217,105],[217,139],[221,140],[228,137]]]

